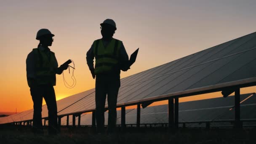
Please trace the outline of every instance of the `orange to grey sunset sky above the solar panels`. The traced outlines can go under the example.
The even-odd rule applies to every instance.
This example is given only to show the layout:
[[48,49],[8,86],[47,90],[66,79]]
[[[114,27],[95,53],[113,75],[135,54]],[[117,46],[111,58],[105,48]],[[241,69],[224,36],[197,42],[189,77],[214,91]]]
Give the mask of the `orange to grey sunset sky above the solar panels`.
[[[33,107],[25,61],[41,28],[55,34],[50,48],[59,64],[75,61],[75,88],[66,88],[57,76],[56,98],[62,99],[94,88],[85,53],[101,38],[104,19],[115,20],[114,37],[128,55],[140,48],[136,63],[121,72],[126,77],[255,32],[255,5],[255,0],[0,0],[0,112]],[[220,93],[181,101],[216,96]]]

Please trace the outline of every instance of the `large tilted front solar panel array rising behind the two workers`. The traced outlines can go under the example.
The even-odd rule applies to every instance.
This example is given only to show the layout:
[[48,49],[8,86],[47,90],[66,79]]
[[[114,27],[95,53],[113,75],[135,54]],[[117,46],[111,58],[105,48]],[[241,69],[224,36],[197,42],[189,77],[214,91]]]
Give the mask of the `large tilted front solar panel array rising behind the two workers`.
[[[117,105],[135,104],[149,99],[179,96],[218,86],[256,82],[256,32],[216,45],[167,64],[121,79]],[[95,89],[57,101],[58,115],[95,109]],[[107,107],[107,104],[106,104]],[[43,106],[43,117],[47,117]],[[32,112],[22,112],[0,123],[32,119]]]

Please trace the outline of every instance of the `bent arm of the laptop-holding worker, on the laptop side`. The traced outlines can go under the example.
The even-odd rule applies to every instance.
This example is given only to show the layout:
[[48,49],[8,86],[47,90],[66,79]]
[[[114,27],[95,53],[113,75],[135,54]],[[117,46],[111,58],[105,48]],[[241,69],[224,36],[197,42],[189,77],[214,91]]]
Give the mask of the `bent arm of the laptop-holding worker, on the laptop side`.
[[120,69],[122,71],[127,71],[128,69],[130,69],[130,67],[128,67],[128,63],[129,63],[129,57],[128,54],[125,50],[125,46],[123,45],[123,43],[121,43],[121,47],[120,47],[120,51],[119,51],[119,61],[120,61]]

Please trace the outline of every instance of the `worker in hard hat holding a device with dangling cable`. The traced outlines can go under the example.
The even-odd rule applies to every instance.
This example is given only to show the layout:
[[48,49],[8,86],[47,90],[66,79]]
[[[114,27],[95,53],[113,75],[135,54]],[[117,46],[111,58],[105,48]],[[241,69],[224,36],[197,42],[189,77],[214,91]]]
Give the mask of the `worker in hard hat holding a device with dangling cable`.
[[42,102],[43,98],[48,108],[49,134],[56,134],[57,104],[53,86],[56,85],[56,74],[61,74],[68,65],[58,67],[55,54],[48,48],[53,43],[54,35],[48,29],[40,29],[36,39],[40,40],[27,56],[27,82],[34,103],[33,131],[43,134]]

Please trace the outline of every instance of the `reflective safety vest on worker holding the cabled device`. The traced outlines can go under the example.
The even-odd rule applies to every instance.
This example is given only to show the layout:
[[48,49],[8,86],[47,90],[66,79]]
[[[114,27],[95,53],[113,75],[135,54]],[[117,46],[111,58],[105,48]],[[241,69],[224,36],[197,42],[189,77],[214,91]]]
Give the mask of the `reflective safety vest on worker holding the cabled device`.
[[[58,67],[55,54],[50,51],[50,55],[39,48],[32,51],[37,57],[35,62],[35,83],[37,85],[50,84],[56,85],[56,69]],[[31,82],[28,80],[29,87]]]

